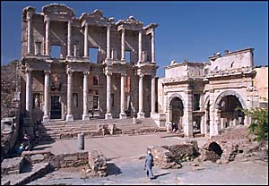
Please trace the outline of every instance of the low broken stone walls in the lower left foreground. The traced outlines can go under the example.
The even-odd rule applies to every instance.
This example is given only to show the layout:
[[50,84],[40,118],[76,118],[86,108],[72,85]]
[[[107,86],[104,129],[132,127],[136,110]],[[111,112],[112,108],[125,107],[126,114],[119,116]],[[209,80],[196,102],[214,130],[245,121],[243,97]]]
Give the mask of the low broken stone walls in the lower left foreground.
[[1,183],[26,184],[53,170],[83,167],[88,176],[106,176],[106,157],[98,150],[54,155],[48,150],[24,151],[1,164]]

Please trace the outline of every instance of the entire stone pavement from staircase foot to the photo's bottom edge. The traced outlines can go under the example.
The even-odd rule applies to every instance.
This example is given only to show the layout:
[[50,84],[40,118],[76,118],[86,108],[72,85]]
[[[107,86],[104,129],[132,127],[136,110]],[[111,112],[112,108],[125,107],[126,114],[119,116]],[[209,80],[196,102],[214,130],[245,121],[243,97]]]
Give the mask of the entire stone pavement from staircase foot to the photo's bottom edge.
[[[166,135],[167,136],[167,135]],[[57,170],[39,178],[30,185],[39,184],[268,184],[268,162],[231,162],[228,165],[216,165],[204,162],[194,167],[190,162],[182,163],[180,169],[161,169],[154,166],[152,171],[157,177],[149,181],[143,171],[146,147],[152,145],[175,144],[187,138],[165,137],[163,135],[120,136],[99,139],[85,139],[85,149],[99,149],[108,158],[108,176],[85,178],[82,171]],[[207,139],[195,138],[201,147]],[[53,144],[36,148],[47,148],[53,153],[75,151],[77,140],[60,140]]]

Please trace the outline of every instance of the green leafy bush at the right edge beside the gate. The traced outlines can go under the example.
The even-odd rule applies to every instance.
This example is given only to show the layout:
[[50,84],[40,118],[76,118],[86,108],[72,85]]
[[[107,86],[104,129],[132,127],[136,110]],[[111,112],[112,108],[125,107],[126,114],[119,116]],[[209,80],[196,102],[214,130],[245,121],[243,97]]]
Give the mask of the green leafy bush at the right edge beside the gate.
[[242,112],[253,119],[248,129],[256,136],[254,140],[258,142],[268,140],[268,108],[247,108],[242,109]]

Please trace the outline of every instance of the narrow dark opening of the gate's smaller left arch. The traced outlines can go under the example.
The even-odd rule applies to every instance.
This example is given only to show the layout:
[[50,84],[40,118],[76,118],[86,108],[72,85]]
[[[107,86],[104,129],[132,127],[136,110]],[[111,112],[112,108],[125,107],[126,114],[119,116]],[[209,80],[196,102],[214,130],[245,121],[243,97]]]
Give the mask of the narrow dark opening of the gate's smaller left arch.
[[170,102],[170,109],[171,109],[171,122],[178,124],[178,130],[183,131],[183,102],[179,97],[173,97]]

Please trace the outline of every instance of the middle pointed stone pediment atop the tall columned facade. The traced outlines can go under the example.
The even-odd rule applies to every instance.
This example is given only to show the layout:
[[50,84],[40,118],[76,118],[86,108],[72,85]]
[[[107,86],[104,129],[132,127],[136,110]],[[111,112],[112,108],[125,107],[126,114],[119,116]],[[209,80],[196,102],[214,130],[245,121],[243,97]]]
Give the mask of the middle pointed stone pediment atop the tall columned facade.
[[107,25],[108,23],[113,22],[114,18],[104,17],[103,12],[97,9],[92,13],[82,13],[80,21],[86,21],[88,24]]

